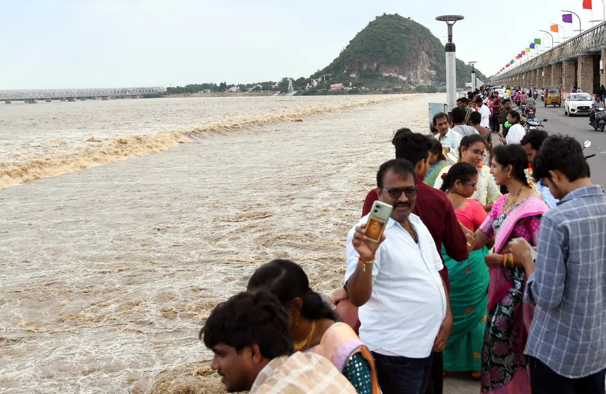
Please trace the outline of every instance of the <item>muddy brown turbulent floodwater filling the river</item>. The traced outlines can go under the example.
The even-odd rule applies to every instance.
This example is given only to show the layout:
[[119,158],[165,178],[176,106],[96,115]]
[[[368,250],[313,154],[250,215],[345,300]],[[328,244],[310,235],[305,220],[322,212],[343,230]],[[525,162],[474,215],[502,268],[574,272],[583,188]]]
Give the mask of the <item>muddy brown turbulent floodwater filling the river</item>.
[[442,100],[0,106],[0,392],[221,392],[210,310],[276,257],[330,297],[394,131]]

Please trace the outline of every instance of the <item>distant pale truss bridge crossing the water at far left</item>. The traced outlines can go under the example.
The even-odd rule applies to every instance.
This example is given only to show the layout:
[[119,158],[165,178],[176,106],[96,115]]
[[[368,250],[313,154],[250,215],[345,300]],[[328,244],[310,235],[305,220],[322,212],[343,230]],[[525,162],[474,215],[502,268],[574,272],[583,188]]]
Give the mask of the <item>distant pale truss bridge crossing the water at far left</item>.
[[86,100],[90,97],[96,100],[101,97],[102,100],[111,98],[131,97],[138,99],[141,96],[165,94],[166,88],[163,86],[145,87],[145,88],[87,88],[87,89],[29,89],[29,90],[0,90],[0,100],[10,104],[12,100],[24,100],[26,103],[36,103],[38,99],[45,99],[50,102],[52,99],[61,101],[76,101],[76,99]]

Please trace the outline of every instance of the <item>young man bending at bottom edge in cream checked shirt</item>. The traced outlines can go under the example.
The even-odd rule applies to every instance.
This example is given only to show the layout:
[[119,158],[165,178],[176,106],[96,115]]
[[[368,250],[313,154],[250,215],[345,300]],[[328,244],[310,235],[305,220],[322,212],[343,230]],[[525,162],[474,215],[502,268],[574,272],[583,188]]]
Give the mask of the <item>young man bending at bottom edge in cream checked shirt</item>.
[[218,304],[200,338],[215,353],[210,367],[227,392],[356,394],[328,359],[295,353],[286,310],[268,292],[242,292]]

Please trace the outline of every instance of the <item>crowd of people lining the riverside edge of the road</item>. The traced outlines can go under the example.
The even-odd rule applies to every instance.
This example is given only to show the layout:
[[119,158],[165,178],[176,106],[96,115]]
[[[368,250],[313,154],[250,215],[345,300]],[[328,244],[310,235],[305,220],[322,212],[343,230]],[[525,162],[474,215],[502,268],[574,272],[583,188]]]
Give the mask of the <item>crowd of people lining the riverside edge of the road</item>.
[[[604,394],[606,197],[576,140],[518,137],[519,114],[484,93],[436,114],[433,135],[396,131],[335,308],[289,260],[215,307],[200,338],[228,392],[442,394],[458,371],[481,393]],[[504,119],[516,137],[493,149]]]

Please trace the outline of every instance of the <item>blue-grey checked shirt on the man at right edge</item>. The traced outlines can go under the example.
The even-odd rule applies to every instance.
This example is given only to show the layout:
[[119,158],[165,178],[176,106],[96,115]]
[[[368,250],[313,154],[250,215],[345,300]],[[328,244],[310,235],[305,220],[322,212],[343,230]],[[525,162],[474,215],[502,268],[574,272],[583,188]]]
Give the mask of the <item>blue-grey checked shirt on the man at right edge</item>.
[[566,378],[606,368],[606,197],[599,186],[571,191],[542,216],[524,301],[536,303],[527,355]]

